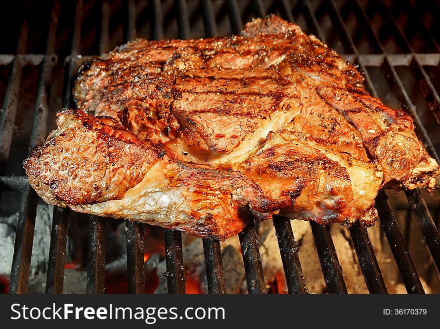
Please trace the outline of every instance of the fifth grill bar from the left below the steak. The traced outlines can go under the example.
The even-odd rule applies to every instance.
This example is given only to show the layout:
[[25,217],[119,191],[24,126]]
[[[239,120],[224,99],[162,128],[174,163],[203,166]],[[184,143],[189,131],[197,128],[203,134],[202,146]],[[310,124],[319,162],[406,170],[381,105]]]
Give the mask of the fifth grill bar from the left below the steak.
[[168,293],[185,293],[182,236],[179,231],[165,229],[165,256]]

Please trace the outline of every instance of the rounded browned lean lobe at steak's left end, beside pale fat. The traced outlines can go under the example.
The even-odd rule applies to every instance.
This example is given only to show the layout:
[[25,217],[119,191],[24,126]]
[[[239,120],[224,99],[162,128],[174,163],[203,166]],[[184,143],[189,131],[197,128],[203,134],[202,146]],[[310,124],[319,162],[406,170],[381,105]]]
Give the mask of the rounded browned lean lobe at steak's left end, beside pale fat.
[[58,130],[24,160],[29,183],[52,204],[81,205],[120,199],[163,155],[115,120],[63,110]]

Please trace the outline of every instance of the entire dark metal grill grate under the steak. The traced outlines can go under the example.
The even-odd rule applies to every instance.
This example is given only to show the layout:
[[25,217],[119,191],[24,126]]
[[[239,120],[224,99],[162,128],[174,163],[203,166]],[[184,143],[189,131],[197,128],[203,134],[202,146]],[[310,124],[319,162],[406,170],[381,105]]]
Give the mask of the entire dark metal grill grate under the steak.
[[[165,2],[169,4],[170,2]],[[244,3],[244,5],[243,5]],[[62,6],[67,6],[74,11],[71,22],[69,37],[70,52],[56,54],[56,30],[58,18]],[[369,68],[378,68],[385,73],[388,85],[393,92],[400,107],[407,111],[414,119],[415,132],[418,138],[426,147],[428,153],[437,162],[440,162],[434,146],[417,116],[415,106],[408,96],[404,84],[395,67],[407,67],[413,79],[419,84],[425,101],[440,123],[440,98],[438,91],[431,82],[426,66],[434,67],[438,71],[440,61],[440,34],[438,34],[438,22],[433,22],[430,28],[421,21],[426,11],[440,14],[438,3],[434,1],[420,3],[408,1],[395,1],[389,6],[389,1],[374,0],[367,4],[360,1],[335,1],[322,0],[316,8],[311,6],[307,0],[299,1],[245,1],[225,0],[220,5],[211,0],[200,0],[193,11],[185,0],[176,0],[171,4],[171,9],[164,9],[164,4],[159,0],[147,2],[129,0],[123,2],[123,10],[116,13],[112,10],[109,1],[96,2],[93,4],[98,8],[100,20],[96,20],[96,50],[98,53],[108,51],[117,44],[110,44],[110,25],[114,15],[123,16],[123,42],[140,36],[138,30],[142,27],[139,23],[137,9],[147,8],[149,15],[149,39],[167,38],[172,30],[167,24],[171,16],[175,16],[177,32],[174,38],[193,38],[198,36],[199,31],[191,31],[191,23],[195,16],[200,16],[204,25],[204,36],[216,36],[219,25],[217,22],[228,21],[230,32],[237,33],[243,27],[243,22],[248,17],[263,17],[269,13],[275,13],[290,22],[301,20],[301,28],[308,33],[316,35],[320,40],[325,41],[325,33],[319,24],[320,19],[326,13],[331,24],[338,33],[340,47],[339,51],[344,58],[357,63],[360,70],[365,73],[365,82],[368,90],[375,97],[378,96],[374,83],[370,78]],[[220,8],[218,8],[220,6]],[[9,7],[6,7],[9,8]],[[90,2],[70,1],[61,2],[55,0],[48,7],[49,24],[45,53],[26,54],[26,44],[29,41],[29,26],[26,11],[19,27],[15,54],[0,54],[0,65],[7,66],[9,77],[7,79],[3,106],[0,113],[0,187],[1,192],[18,191],[21,193],[19,217],[17,223],[17,234],[15,238],[14,255],[10,275],[10,293],[27,292],[30,256],[32,251],[33,229],[35,224],[36,193],[27,183],[23,176],[6,175],[7,162],[10,153],[12,135],[14,133],[15,116],[19,109],[18,93],[23,77],[23,68],[34,66],[39,69],[36,100],[33,111],[32,131],[29,141],[29,151],[43,142],[47,134],[47,118],[49,112],[49,94],[51,90],[51,75],[53,67],[58,61],[64,61],[65,81],[62,98],[64,107],[73,107],[71,98],[72,79],[76,74],[79,64],[86,58],[81,54],[81,41],[83,22],[87,19]],[[192,11],[192,12],[191,12]],[[18,13],[18,11],[17,11]],[[16,15],[17,13],[14,13]],[[26,14],[27,13],[27,14]],[[406,13],[411,26],[417,27],[420,38],[423,40],[424,52],[416,52],[401,30],[397,18],[399,14]],[[411,14],[408,14],[411,13]],[[7,13],[3,13],[6,14]],[[416,14],[416,15],[414,15]],[[354,15],[357,26],[355,33],[345,23],[349,15]],[[371,18],[379,15],[383,19],[383,29],[389,31],[394,42],[397,44],[400,53],[388,53],[381,43],[381,38],[373,29]],[[47,16],[47,15],[46,15]],[[305,24],[305,26],[303,25]],[[3,31],[5,31],[3,29]],[[359,32],[361,31],[361,32]],[[194,34],[195,33],[195,34]],[[363,33],[368,40],[370,52],[364,54],[356,48],[356,33]],[[354,35],[354,37],[353,37]],[[331,45],[330,45],[331,47]],[[90,55],[90,54],[84,54]],[[431,256],[440,270],[440,236],[436,225],[429,213],[423,197],[418,189],[405,191],[408,202],[415,215],[422,235],[431,252]],[[438,191],[434,192],[438,193]],[[402,233],[398,227],[394,213],[384,191],[380,191],[376,198],[381,227],[391,247],[395,262],[400,271],[403,283],[408,293],[424,293],[420,279],[417,275],[412,258]],[[68,229],[69,210],[54,208],[52,233],[50,237],[50,251],[47,268],[46,293],[62,293],[63,273],[65,265],[65,248]],[[280,216],[275,216],[273,224],[278,239],[282,264],[284,267],[286,283],[289,293],[307,293],[306,278],[304,278],[299,262],[299,249],[294,239],[289,221]],[[329,293],[346,293],[347,289],[343,277],[342,268],[339,265],[332,237],[328,227],[320,226],[314,222],[310,223],[316,250],[318,252],[322,273]],[[127,292],[144,293],[144,269],[143,269],[143,229],[138,223],[127,222],[125,226],[127,243]],[[387,293],[381,271],[378,267],[373,247],[368,237],[367,229],[361,223],[355,223],[349,230],[353,248],[357,254],[360,269],[365,278],[368,291],[371,293]],[[258,251],[258,239],[253,221],[239,234],[239,240],[245,265],[247,286],[249,293],[267,293],[267,287],[261,268],[261,259]],[[104,263],[105,263],[105,219],[90,216],[89,238],[87,254],[87,293],[104,292]],[[225,279],[221,261],[220,244],[217,240],[203,240],[203,251],[205,257],[206,274],[209,293],[225,293]],[[165,255],[166,273],[169,293],[185,293],[184,259],[182,256],[182,245],[180,232],[165,230]]]

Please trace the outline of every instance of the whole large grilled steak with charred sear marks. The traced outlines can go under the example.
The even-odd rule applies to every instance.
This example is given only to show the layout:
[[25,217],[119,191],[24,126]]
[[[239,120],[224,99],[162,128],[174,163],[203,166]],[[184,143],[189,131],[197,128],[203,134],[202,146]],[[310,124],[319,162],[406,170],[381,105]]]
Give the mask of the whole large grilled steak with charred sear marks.
[[51,204],[225,239],[249,212],[375,218],[383,186],[434,188],[412,120],[277,17],[237,36],[134,40],[85,63],[78,110],[24,161]]

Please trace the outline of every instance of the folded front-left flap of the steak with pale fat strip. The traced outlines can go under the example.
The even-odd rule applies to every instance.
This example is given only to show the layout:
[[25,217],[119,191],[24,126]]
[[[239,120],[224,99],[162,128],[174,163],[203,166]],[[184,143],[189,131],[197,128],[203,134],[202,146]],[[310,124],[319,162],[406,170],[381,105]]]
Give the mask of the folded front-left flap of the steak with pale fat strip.
[[242,173],[182,162],[113,119],[64,110],[56,123],[24,161],[29,183],[48,203],[222,240],[244,228],[249,206],[273,209]]

